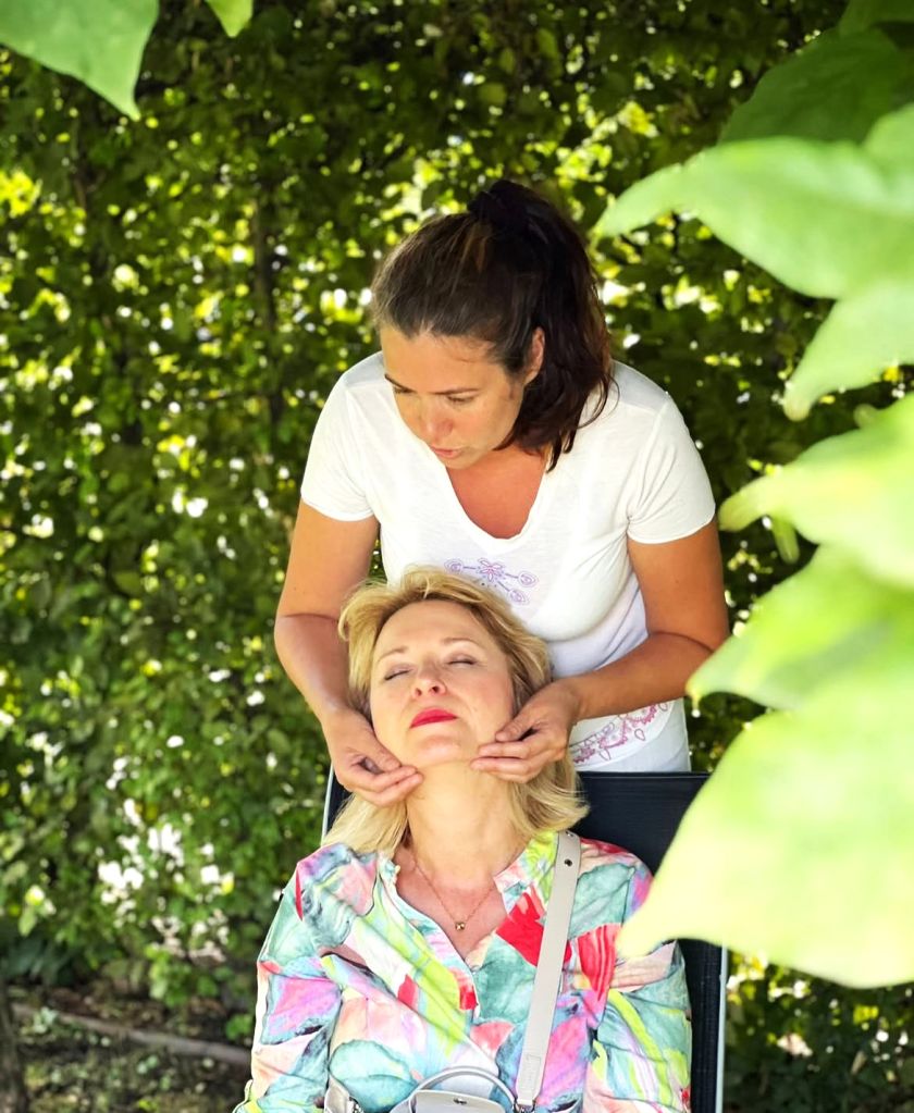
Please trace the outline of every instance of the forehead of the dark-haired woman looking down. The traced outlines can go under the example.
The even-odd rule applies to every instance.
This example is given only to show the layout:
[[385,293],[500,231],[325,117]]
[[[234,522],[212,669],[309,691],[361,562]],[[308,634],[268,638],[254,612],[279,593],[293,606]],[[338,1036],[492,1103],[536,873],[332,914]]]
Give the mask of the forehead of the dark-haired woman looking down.
[[404,336],[395,328],[382,328],[381,348],[386,373],[409,390],[479,390],[507,377],[492,359],[490,345],[469,336]]

